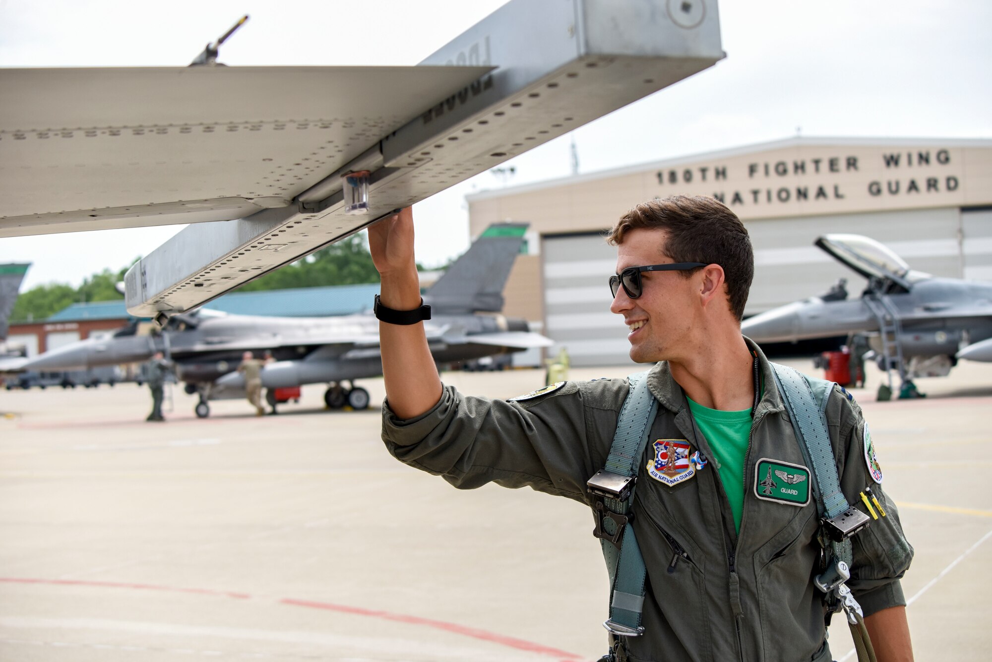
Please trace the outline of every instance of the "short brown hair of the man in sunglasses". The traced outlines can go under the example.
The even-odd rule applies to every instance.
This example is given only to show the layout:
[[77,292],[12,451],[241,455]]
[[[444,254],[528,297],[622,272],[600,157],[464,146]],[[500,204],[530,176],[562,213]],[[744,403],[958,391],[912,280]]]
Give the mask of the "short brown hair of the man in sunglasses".
[[[606,235],[617,246],[636,228],[665,230],[663,254],[675,262],[701,262],[723,268],[730,310],[738,321],[754,279],[754,250],[747,229],[725,204],[705,195],[673,195],[642,202],[620,217]],[[695,270],[681,272],[689,277]]]

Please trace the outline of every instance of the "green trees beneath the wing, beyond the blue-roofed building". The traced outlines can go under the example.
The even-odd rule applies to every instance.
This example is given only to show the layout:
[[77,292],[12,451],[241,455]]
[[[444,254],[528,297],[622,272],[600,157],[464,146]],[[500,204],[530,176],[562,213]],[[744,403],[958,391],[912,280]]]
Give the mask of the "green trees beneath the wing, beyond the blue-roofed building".
[[[10,321],[17,323],[47,319],[73,303],[123,299],[116,284],[124,279],[129,268],[130,266],[124,267],[117,272],[105,269],[99,274],[84,278],[78,287],[60,282],[36,285],[21,292],[14,304]],[[420,265],[418,269],[422,269]],[[255,278],[238,290],[249,292],[378,281],[379,273],[372,264],[372,256],[365,245],[364,236],[352,235],[292,265]]]

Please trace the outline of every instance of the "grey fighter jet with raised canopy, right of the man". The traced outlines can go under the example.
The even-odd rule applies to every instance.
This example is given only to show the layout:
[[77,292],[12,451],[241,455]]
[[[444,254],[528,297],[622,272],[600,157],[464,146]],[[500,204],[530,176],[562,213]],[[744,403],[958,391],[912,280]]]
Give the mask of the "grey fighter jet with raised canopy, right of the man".
[[884,245],[861,235],[824,235],[815,245],[861,276],[859,298],[813,296],[755,315],[741,324],[759,343],[863,334],[893,392],[916,393],[917,377],[944,377],[958,359],[992,361],[992,282],[915,272]]

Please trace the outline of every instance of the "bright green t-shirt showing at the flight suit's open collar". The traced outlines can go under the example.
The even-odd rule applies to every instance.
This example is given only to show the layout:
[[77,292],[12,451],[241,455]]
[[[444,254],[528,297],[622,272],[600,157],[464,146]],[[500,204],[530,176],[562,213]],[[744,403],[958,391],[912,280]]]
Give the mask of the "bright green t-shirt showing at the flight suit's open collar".
[[720,473],[720,482],[734,515],[734,527],[740,533],[744,509],[744,455],[751,436],[751,409],[720,411],[704,407],[689,397],[685,399],[695,424],[716,456],[710,458],[710,466]]

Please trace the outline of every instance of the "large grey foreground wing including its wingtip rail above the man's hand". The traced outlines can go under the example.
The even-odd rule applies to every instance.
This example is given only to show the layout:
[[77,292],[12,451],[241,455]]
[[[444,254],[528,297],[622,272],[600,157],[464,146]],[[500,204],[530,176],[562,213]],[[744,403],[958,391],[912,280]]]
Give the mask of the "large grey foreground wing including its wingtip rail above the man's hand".
[[[2,203],[6,196],[0,196],[0,216],[7,217],[0,225],[17,233],[27,226],[32,232],[130,227],[157,218],[218,221],[189,225],[126,276],[131,314],[168,316],[293,263],[723,56],[714,2],[512,0],[415,67],[335,69],[326,80],[299,68],[151,71],[149,76],[166,81],[169,95],[141,76],[131,81],[165,108],[182,105],[185,114],[167,117],[148,103],[147,115],[125,117],[139,95],[114,94],[104,97],[102,106],[120,107],[120,115],[115,110],[56,122],[52,114],[72,104],[57,94],[55,104],[35,97],[34,106],[48,107],[51,119],[26,127],[0,122],[0,128],[25,129],[13,136],[14,151],[45,150],[45,158],[23,154],[47,184],[40,189],[18,172],[32,193],[18,192],[18,204],[9,209]],[[448,66],[463,64],[475,66]],[[178,90],[180,83],[174,85],[171,77],[186,81],[190,90]],[[216,94],[212,83],[227,78],[236,80],[225,82],[224,89],[238,103],[221,108],[225,95]],[[0,84],[7,91],[3,80]],[[19,87],[29,98],[36,88]],[[177,104],[171,103],[174,92],[182,92]],[[152,150],[150,158],[119,158],[113,146],[128,143],[174,147]],[[68,154],[62,157],[60,148]],[[50,172],[49,165],[56,167]],[[132,178],[131,168],[143,174]],[[53,191],[49,177],[66,170],[71,174],[57,181],[68,184]],[[351,171],[370,173],[365,215],[345,212],[341,175]],[[125,186],[114,184],[118,174],[135,185],[127,189],[134,195],[125,196]],[[44,204],[48,194],[63,203]],[[144,205],[137,220],[135,205]]]

